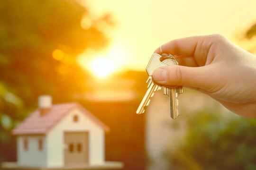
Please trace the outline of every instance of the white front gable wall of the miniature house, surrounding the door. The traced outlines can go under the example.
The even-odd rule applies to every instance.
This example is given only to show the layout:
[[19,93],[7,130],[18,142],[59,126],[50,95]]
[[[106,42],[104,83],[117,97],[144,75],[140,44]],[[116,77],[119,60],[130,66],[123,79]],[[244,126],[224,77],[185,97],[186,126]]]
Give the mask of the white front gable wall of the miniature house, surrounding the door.
[[[78,122],[73,122],[74,115],[78,116]],[[104,130],[81,110],[74,109],[47,134],[47,166],[64,166],[64,132],[89,132],[89,163],[104,163]]]

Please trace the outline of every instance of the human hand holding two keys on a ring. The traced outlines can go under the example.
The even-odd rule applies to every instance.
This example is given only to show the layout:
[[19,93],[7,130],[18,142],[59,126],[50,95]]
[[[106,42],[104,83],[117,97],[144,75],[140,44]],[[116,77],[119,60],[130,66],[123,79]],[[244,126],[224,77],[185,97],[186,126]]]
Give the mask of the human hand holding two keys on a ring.
[[[155,52],[160,54],[160,47]],[[162,52],[179,55],[179,66],[155,69],[156,83],[198,90],[234,113],[256,118],[255,55],[219,34],[172,40]]]

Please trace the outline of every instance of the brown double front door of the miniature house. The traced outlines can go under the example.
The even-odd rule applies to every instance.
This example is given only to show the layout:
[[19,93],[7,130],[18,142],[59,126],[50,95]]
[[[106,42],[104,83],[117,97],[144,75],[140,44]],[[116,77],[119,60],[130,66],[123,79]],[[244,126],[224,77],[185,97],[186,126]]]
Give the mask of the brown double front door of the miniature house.
[[88,132],[65,132],[64,144],[65,165],[88,163]]

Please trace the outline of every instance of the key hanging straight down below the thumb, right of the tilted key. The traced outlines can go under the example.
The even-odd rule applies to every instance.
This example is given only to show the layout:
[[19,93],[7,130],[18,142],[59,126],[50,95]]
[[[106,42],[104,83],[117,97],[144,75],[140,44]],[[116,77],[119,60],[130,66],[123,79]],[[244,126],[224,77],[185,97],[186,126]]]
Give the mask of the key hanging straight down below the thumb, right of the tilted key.
[[[176,61],[174,59],[165,59],[163,60],[163,63],[167,65],[176,65]],[[169,102],[170,102],[170,114],[172,119],[176,119],[179,116],[178,112],[178,95],[183,93],[183,87],[181,85],[175,86],[175,87],[167,87],[164,86],[164,94],[167,94],[169,96]]]

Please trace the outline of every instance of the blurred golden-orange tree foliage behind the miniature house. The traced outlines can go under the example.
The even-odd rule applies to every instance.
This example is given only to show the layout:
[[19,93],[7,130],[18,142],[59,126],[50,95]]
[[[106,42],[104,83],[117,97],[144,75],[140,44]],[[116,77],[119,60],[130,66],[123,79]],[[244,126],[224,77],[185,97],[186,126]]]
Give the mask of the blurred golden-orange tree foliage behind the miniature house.
[[106,46],[113,24],[110,15],[92,17],[74,0],[0,1],[0,161],[16,159],[10,130],[38,95],[67,102],[84,90],[88,74],[76,56]]

